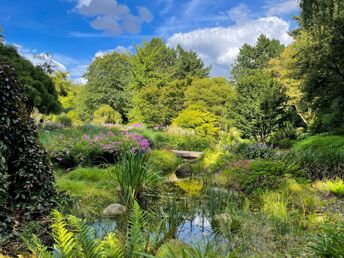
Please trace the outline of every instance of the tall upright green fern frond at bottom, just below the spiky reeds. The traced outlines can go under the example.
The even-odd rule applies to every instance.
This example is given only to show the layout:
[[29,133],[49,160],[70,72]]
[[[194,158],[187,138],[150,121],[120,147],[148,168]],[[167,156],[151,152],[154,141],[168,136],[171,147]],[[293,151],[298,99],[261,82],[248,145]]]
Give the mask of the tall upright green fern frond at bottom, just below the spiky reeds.
[[126,257],[136,257],[138,253],[145,250],[146,226],[147,221],[145,213],[141,210],[139,204],[134,201],[134,205],[128,219],[128,230],[125,242]]

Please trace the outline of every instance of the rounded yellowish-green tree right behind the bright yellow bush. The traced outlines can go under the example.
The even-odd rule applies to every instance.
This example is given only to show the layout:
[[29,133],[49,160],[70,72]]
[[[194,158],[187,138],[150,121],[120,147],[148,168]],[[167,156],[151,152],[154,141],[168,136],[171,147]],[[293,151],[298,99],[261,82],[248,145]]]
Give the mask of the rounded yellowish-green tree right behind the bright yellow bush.
[[235,91],[225,78],[194,80],[185,92],[185,106],[200,105],[216,115],[224,126]]

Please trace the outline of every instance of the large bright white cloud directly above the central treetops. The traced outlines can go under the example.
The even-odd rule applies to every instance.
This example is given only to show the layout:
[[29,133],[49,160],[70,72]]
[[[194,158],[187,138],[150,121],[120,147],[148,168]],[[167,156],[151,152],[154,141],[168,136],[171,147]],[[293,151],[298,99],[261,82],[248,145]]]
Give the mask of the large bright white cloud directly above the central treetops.
[[[245,6],[240,5],[229,12],[231,19],[235,21],[234,25],[175,33],[167,42],[170,46],[180,44],[197,52],[205,64],[213,66],[213,76],[228,77],[230,66],[234,63],[240,47],[244,43],[255,44],[260,34],[278,39],[283,44],[292,42],[288,34],[288,22],[274,16],[251,19],[248,12]],[[242,17],[245,19],[242,20]]]

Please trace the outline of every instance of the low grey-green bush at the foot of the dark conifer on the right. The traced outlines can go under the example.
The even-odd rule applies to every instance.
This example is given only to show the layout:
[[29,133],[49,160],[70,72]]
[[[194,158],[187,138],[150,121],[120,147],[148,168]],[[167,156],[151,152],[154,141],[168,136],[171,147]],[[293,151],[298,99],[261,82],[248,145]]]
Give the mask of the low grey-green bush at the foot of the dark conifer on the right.
[[273,148],[265,143],[240,143],[231,150],[244,159],[268,159],[274,156]]

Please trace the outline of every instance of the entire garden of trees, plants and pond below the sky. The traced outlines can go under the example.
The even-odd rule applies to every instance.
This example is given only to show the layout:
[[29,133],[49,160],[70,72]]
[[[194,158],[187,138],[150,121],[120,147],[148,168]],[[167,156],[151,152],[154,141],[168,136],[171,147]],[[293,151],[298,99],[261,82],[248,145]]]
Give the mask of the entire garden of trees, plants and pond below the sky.
[[12,64],[23,85],[1,66],[0,251],[342,257],[344,4],[300,7],[293,43],[244,44],[231,79],[158,38],[97,57],[85,86],[44,74],[62,110],[35,104],[38,133],[33,66]]

